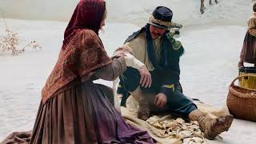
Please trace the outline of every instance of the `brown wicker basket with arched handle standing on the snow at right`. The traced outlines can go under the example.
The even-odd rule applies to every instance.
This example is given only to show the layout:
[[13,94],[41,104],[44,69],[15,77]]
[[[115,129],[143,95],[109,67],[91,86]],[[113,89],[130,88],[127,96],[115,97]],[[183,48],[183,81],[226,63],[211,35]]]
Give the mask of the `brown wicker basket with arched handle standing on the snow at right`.
[[253,74],[244,74],[234,78],[234,81],[230,84],[226,105],[230,110],[230,114],[234,115],[234,118],[256,122],[256,90],[245,89],[234,85],[234,82],[238,78],[248,76],[256,77]]

